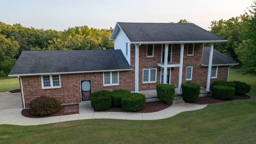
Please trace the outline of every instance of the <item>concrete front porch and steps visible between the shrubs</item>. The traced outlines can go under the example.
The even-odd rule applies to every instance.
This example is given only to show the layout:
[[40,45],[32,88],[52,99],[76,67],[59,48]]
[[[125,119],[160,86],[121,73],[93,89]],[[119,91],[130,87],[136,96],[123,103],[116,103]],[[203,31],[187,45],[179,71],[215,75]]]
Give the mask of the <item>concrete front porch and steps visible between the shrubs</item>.
[[[159,101],[157,98],[156,90],[140,90],[138,93],[144,94],[146,96],[146,102],[154,102]],[[206,91],[206,88],[201,87],[200,89],[200,97],[202,96],[212,96],[211,91]],[[175,94],[174,94],[174,103],[183,103],[184,100],[182,98],[182,93],[178,93],[178,88],[175,88]]]

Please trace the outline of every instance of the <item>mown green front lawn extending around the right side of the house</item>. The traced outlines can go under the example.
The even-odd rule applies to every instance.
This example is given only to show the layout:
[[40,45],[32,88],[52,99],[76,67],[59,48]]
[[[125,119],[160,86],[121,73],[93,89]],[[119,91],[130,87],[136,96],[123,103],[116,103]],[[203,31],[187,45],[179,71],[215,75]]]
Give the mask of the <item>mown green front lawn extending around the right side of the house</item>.
[[[91,119],[39,126],[0,125],[0,143],[252,144],[256,142],[256,76],[230,69],[229,80],[252,86],[251,100],[208,105],[162,120]],[[248,78],[247,78],[248,77]]]

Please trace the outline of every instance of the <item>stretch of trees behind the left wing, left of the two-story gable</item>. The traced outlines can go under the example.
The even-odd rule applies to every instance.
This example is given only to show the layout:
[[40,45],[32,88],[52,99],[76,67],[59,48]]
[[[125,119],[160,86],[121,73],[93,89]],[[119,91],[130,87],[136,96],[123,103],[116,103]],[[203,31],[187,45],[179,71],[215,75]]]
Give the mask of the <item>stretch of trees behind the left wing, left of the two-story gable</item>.
[[1,74],[9,74],[22,51],[114,49],[114,42],[108,40],[112,31],[76,26],[62,32],[0,22]]

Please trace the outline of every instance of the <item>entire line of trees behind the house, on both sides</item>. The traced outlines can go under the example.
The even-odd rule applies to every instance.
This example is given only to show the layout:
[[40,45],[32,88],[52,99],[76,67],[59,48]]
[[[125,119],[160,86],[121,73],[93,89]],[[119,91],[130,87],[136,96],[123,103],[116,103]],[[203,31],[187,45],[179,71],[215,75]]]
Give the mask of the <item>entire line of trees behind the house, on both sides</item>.
[[[239,62],[242,74],[256,75],[256,1],[247,11],[228,20],[212,21],[210,32],[228,40],[226,43],[216,43],[216,50]],[[190,22],[180,20],[177,23]],[[0,22],[0,70],[8,74],[24,50],[114,49],[114,42],[108,40],[112,31],[112,28],[99,30],[76,26],[59,32]]]

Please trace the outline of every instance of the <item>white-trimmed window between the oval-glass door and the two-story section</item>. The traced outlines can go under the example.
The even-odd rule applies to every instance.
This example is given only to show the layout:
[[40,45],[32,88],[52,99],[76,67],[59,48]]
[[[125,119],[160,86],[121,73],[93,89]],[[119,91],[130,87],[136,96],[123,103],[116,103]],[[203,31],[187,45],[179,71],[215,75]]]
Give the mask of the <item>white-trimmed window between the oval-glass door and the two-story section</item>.
[[103,86],[119,85],[119,72],[104,72]]

